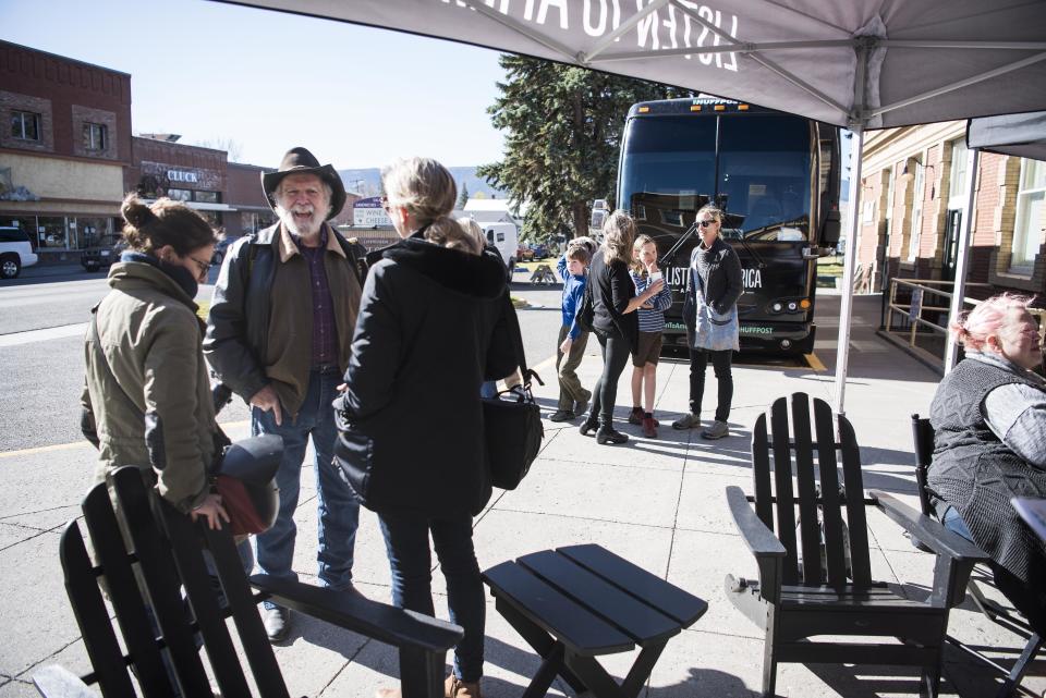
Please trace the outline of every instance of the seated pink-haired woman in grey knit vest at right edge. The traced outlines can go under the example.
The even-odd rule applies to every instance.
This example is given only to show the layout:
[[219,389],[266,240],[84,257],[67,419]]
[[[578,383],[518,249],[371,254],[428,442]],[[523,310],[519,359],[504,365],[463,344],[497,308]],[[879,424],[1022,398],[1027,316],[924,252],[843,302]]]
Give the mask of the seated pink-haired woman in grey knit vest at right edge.
[[1046,632],[1046,546],[1012,497],[1046,498],[1046,381],[1031,299],[988,298],[952,323],[966,357],[931,406],[936,432],[929,487],[945,525],[992,556],[999,590]]

